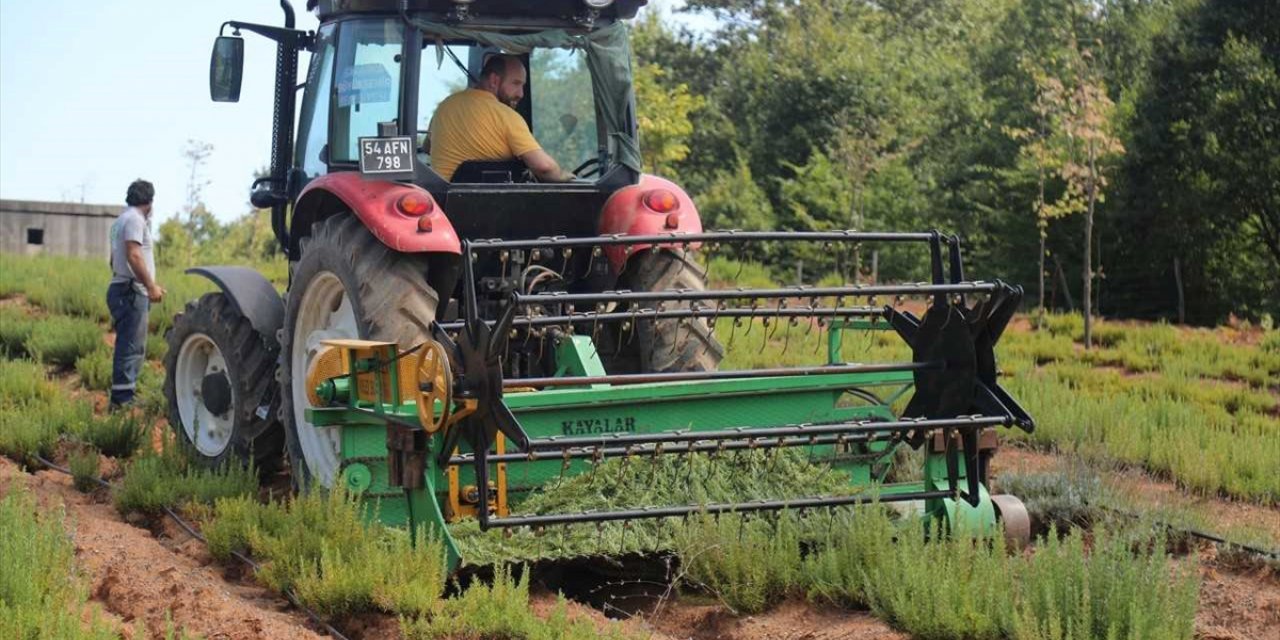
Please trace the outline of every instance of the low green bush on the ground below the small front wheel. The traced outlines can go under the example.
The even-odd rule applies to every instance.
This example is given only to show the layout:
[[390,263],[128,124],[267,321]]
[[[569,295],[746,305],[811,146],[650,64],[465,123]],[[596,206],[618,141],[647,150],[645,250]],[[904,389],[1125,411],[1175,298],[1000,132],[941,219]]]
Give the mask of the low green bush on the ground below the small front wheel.
[[192,502],[212,504],[218,498],[250,495],[257,492],[257,472],[252,467],[228,465],[207,470],[191,463],[175,445],[133,458],[124,479],[113,494],[122,515],[157,515],[165,507]]

